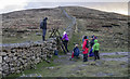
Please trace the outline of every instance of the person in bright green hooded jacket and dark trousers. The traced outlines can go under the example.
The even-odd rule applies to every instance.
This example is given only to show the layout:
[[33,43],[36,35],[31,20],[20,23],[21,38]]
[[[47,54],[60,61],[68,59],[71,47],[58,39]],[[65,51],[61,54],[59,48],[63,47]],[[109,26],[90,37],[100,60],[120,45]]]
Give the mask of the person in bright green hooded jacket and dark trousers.
[[94,61],[100,60],[99,50],[100,50],[100,43],[98,43],[98,39],[95,39],[92,50],[92,52],[94,52]]

